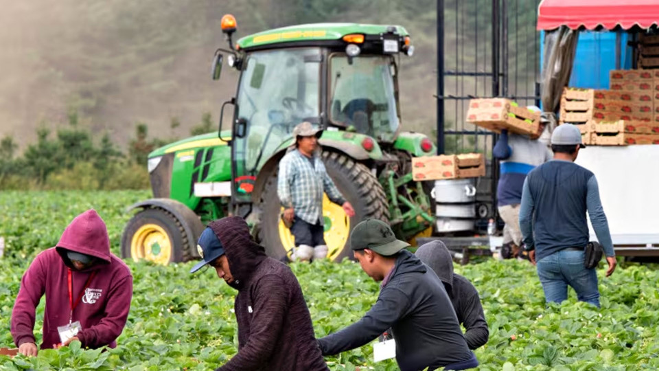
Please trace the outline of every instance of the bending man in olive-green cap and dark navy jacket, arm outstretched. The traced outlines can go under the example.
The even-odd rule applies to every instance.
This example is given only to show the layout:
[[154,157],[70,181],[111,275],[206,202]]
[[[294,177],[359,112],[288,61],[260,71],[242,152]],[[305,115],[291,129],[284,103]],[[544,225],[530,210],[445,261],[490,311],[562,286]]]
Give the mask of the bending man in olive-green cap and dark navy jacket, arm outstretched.
[[397,240],[389,225],[362,221],[351,233],[350,245],[367,275],[382,282],[380,295],[358,322],[319,339],[323,355],[364,346],[391,328],[402,371],[478,366],[443,284],[405,249],[409,245]]

